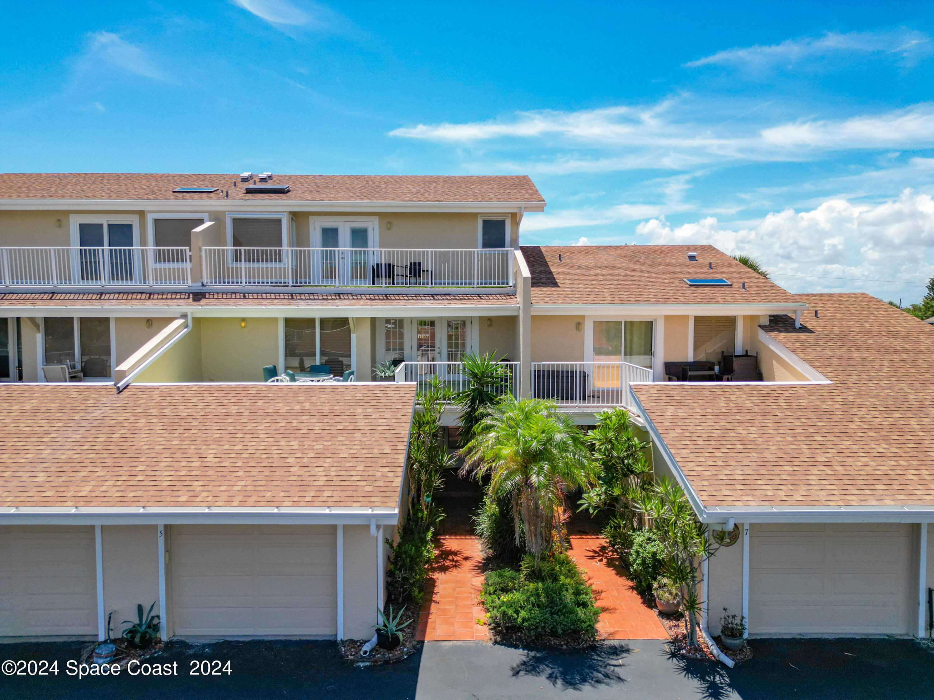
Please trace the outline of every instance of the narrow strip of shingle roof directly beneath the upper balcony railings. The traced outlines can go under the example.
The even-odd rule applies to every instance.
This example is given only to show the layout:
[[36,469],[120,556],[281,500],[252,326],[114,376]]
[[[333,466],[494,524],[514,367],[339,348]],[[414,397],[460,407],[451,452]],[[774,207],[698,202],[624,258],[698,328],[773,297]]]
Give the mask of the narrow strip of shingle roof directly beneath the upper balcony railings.
[[101,308],[179,307],[343,307],[343,306],[498,306],[516,305],[515,294],[317,294],[291,292],[7,292],[4,307]]

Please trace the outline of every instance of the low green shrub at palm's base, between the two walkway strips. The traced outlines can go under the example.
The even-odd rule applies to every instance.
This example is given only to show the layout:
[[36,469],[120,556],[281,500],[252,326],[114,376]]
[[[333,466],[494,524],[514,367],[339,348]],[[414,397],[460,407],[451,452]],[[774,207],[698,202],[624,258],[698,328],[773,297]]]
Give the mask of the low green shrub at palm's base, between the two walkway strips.
[[480,602],[494,630],[532,640],[596,638],[600,609],[571,557],[543,557],[536,569],[526,555],[520,568],[490,571],[484,580]]

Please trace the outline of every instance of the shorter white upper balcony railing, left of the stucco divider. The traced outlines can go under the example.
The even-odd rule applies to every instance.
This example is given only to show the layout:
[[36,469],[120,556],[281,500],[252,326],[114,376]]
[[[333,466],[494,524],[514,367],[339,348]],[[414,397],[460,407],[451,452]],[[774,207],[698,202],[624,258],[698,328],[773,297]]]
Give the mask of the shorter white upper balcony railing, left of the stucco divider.
[[188,287],[188,248],[0,247],[3,287]]

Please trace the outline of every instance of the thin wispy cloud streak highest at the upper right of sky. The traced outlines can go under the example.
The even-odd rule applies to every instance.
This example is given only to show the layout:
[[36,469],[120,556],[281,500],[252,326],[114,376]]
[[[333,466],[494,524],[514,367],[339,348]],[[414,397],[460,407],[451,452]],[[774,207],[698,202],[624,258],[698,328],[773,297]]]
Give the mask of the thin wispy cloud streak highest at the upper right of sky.
[[894,32],[852,32],[840,34],[828,32],[819,37],[787,39],[781,44],[717,51],[697,61],[685,63],[686,68],[704,65],[736,65],[743,68],[786,67],[836,56],[864,54],[880,58],[894,58],[903,63],[913,63],[919,57],[934,51],[930,37],[923,32],[900,29]]

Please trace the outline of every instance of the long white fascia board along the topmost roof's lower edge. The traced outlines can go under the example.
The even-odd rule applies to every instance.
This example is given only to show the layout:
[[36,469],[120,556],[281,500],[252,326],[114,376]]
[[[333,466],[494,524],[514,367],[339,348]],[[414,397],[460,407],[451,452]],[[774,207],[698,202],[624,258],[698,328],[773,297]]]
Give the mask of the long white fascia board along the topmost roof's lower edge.
[[[231,188],[233,189],[233,188]],[[147,211],[186,210],[226,212],[428,212],[519,214],[544,212],[542,202],[309,202],[308,200],[244,201],[219,197],[213,200],[0,200],[3,210]]]

